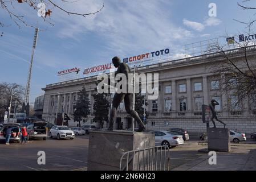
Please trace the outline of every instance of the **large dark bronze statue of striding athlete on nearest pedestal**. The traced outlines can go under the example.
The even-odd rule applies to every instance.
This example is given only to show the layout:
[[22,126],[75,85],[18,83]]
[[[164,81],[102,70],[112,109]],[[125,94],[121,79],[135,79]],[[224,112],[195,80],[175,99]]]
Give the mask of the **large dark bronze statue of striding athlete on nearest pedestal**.
[[[114,65],[114,67],[117,68],[117,72],[115,73],[124,73],[126,78],[127,78],[127,90],[128,91],[128,86],[130,84],[128,84],[128,74],[131,72],[131,69],[129,68],[129,66],[126,63],[121,63],[121,60],[119,57],[115,56],[112,59],[112,63]],[[116,110],[117,107],[119,106],[120,102],[124,100],[124,106],[125,106],[125,110],[127,111],[128,114],[130,114],[135,121],[137,121],[138,125],[139,125],[139,132],[141,131],[145,131],[145,125],[144,123],[141,121],[139,114],[132,109],[132,93],[115,93],[115,96],[113,97],[113,101],[112,101],[112,108],[110,110],[109,113],[109,127],[108,130],[113,130],[113,122],[116,120]]]

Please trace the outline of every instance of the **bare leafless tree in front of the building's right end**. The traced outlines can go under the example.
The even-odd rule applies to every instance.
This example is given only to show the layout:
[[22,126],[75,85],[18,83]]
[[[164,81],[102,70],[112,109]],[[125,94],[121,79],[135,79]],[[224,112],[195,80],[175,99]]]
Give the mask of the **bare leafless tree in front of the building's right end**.
[[234,40],[232,46],[216,42],[208,51],[216,55],[208,64],[215,80],[220,80],[222,93],[237,97],[237,102],[229,106],[237,107],[247,99],[256,103],[255,44],[249,40],[242,43]]

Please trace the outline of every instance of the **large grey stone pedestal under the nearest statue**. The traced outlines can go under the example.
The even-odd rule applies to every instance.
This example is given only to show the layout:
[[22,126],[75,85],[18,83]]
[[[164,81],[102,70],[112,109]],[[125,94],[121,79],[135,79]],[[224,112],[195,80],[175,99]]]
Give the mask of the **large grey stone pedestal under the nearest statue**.
[[155,135],[123,130],[90,131],[88,171],[119,171],[124,152],[155,146]]

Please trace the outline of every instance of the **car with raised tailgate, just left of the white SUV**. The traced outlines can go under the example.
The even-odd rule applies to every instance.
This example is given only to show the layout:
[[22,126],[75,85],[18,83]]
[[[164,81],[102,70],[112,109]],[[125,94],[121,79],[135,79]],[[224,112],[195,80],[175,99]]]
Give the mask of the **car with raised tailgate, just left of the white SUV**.
[[42,138],[43,140],[46,140],[47,138],[46,125],[47,125],[47,122],[36,121],[32,125],[27,126],[27,140],[38,139],[38,138]]

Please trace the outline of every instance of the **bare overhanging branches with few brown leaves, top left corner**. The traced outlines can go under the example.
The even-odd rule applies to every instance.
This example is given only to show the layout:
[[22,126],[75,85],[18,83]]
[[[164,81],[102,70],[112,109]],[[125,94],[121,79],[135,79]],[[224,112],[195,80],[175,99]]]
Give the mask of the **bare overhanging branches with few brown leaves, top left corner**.
[[[62,5],[59,5],[60,2],[76,3],[78,1],[80,1],[80,0],[60,0],[57,3],[54,0],[0,0],[0,4],[1,4],[2,9],[5,10],[7,14],[9,14],[10,19],[13,20],[13,22],[19,28],[21,28],[20,23],[25,24],[25,26],[34,27],[32,24],[29,24],[27,22],[24,15],[18,15],[15,12],[15,7],[17,7],[19,5],[19,3],[25,3],[27,6],[31,7],[32,10],[35,10],[36,14],[37,14],[37,11],[39,10],[39,8],[37,7],[39,3],[44,3],[45,5],[47,5],[45,15],[41,16],[41,18],[45,22],[48,22],[50,24],[52,24],[52,23],[47,19],[47,16],[50,17],[50,15],[51,15],[51,13],[53,13],[54,9],[59,9],[68,15],[76,15],[76,16],[86,17],[88,15],[95,15],[96,13],[99,13],[99,11],[101,11],[104,7],[104,3],[103,3],[103,5],[101,6],[101,8],[99,10],[94,11],[92,13],[76,13],[76,12],[68,11],[68,10],[64,9],[64,7]],[[5,26],[5,24],[1,20],[0,20],[0,26],[2,26],[2,27]]]

